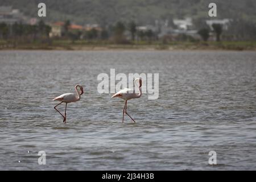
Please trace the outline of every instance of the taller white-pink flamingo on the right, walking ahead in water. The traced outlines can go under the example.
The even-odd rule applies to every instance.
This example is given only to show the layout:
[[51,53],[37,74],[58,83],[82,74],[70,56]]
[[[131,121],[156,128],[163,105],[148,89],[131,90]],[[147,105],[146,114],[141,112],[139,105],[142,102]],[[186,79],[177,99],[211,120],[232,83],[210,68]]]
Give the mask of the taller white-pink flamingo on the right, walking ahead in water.
[[[139,86],[136,84],[137,80],[139,80]],[[142,95],[142,92],[141,92],[142,80],[141,80],[141,78],[136,78],[134,80],[134,85],[136,85],[137,88],[139,89],[139,93],[138,94],[135,93],[135,90],[133,90],[133,89],[124,88],[124,89],[120,90],[119,92],[115,93],[112,96],[112,98],[113,97],[119,97],[119,98],[122,98],[123,100],[125,100],[125,106],[123,107],[123,118],[124,118],[125,114],[127,114],[133,120],[133,122],[135,122],[134,119],[126,111],[126,109],[127,109],[127,101],[132,99],[132,98],[139,98],[139,97],[141,97],[141,95]],[[133,93],[129,93],[130,90],[133,90]]]

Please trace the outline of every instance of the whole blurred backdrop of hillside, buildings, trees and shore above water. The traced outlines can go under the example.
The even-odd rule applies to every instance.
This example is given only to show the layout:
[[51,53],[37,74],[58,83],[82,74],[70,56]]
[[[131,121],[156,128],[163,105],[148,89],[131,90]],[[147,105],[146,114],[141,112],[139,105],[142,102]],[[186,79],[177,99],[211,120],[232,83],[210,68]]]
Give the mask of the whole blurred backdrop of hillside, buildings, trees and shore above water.
[[[38,4],[46,4],[46,17]],[[256,1],[0,0],[0,48],[255,49]]]

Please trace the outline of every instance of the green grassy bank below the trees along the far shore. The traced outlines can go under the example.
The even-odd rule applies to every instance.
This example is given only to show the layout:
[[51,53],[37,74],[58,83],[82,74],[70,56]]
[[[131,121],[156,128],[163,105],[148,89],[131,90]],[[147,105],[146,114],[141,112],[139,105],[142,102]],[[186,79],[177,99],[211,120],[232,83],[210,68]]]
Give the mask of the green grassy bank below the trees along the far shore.
[[251,50],[256,51],[256,41],[252,42],[134,42],[130,44],[113,44],[109,42],[78,40],[51,40],[51,42],[13,43],[0,40],[0,49],[45,49],[45,50],[108,50],[108,49],[142,49],[142,50]]

